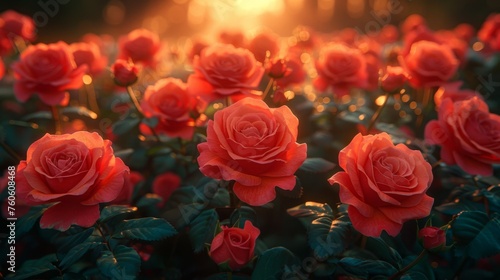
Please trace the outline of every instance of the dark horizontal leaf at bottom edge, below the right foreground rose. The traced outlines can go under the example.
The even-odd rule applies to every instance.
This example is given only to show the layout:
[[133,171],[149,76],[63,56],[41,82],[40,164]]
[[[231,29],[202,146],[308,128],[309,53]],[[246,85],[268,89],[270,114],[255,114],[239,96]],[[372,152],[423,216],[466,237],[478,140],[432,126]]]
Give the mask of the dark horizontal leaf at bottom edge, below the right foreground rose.
[[342,258],[339,265],[349,274],[363,279],[371,279],[376,276],[391,276],[397,272],[397,269],[392,265],[380,260]]

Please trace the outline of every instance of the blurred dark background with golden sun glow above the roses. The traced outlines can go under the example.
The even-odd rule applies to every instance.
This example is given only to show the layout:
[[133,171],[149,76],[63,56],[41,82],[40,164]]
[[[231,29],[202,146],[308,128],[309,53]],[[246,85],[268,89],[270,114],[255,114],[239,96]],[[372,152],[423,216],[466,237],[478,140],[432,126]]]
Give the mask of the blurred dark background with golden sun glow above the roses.
[[145,27],[163,38],[206,34],[220,27],[246,30],[266,26],[289,35],[297,25],[320,32],[353,27],[377,32],[399,25],[408,15],[423,15],[434,30],[461,22],[479,28],[500,12],[498,0],[1,0],[0,12],[14,9],[31,16],[39,42],[77,41],[83,34],[114,37]]

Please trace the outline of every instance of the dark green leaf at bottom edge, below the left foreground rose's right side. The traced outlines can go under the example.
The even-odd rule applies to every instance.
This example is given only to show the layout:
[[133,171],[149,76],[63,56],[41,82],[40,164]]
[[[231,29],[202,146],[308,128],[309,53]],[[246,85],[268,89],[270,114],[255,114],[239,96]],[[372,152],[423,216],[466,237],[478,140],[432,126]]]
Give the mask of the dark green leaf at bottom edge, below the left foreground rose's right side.
[[97,266],[110,279],[135,279],[141,269],[141,258],[133,248],[118,245],[113,252],[103,251]]

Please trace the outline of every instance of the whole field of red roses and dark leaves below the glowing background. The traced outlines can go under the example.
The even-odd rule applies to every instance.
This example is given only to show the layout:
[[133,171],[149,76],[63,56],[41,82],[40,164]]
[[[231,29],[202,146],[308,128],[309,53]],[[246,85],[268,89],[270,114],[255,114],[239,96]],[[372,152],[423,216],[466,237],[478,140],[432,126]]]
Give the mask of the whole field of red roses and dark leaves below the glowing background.
[[433,30],[0,14],[6,279],[500,279],[500,14]]

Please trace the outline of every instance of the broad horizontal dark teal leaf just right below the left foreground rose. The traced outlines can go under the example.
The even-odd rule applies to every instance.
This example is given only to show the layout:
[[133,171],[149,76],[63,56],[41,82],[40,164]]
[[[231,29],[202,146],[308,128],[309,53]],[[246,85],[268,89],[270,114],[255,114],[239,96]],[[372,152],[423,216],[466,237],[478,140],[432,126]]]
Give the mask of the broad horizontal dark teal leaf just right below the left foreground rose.
[[176,233],[175,228],[164,219],[141,218],[121,222],[112,237],[156,241]]

